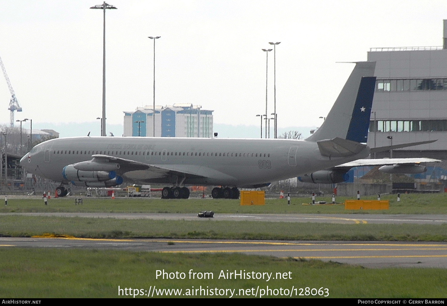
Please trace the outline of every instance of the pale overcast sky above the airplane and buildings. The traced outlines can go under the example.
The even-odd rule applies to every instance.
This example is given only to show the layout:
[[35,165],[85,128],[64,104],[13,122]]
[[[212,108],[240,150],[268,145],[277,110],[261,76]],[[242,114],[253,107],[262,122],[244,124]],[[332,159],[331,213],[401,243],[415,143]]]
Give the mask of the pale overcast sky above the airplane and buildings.
[[[33,122],[101,117],[102,11],[95,0],[1,0],[0,56]],[[266,52],[276,48],[278,126],[320,125],[371,47],[440,46],[444,0],[110,0],[106,11],[107,123],[156,104],[193,103],[215,123],[259,125],[265,113]],[[268,113],[273,112],[273,51]],[[447,72],[446,72],[447,73]],[[9,122],[0,80],[0,123]],[[1,110],[1,109],[0,109]],[[99,121],[99,120],[98,120]],[[17,126],[17,125],[16,125]],[[99,126],[99,123],[98,123]]]

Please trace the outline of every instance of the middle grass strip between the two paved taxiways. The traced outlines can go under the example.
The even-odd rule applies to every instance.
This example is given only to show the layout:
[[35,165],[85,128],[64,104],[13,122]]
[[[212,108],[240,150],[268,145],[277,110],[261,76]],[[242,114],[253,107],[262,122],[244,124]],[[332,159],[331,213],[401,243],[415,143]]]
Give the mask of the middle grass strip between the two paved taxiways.
[[447,224],[328,224],[257,221],[124,220],[83,217],[0,217],[0,236],[45,233],[81,238],[447,241]]

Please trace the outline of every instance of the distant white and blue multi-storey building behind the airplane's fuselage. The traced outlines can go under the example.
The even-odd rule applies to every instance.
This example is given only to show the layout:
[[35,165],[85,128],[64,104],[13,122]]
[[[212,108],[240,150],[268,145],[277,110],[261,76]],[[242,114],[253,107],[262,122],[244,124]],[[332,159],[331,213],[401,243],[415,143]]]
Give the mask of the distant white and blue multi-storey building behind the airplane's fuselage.
[[[153,136],[152,106],[124,112],[123,136]],[[190,103],[155,107],[156,137],[213,137],[213,110]]]

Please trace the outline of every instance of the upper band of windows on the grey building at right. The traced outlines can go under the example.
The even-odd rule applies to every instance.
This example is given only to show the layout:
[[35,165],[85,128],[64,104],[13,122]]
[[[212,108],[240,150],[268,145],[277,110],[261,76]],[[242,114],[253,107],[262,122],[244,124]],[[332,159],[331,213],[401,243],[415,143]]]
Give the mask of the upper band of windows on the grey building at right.
[[447,79],[377,80],[375,91],[447,90]]

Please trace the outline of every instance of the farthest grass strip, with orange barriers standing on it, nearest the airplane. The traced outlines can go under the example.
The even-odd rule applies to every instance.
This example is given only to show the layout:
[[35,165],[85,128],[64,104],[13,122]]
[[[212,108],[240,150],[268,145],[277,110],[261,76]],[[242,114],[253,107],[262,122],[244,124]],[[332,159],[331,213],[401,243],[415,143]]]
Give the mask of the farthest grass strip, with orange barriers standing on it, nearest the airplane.
[[[74,198],[48,200],[43,204],[41,198],[8,200],[8,206],[2,205],[0,212],[156,212],[156,213],[197,213],[213,210],[215,213],[362,213],[362,214],[445,214],[447,213],[447,193],[439,194],[402,194],[401,202],[396,195],[383,195],[381,200],[390,201],[388,210],[345,210],[344,205],[302,205],[311,202],[311,197],[287,200],[267,199],[266,205],[240,206],[239,200],[189,199],[161,200],[148,198],[93,198],[84,197],[83,205],[75,205]],[[353,197],[337,197],[337,202]],[[363,197],[364,200],[376,200],[376,196]],[[317,200],[332,201],[332,197],[317,197]]]

